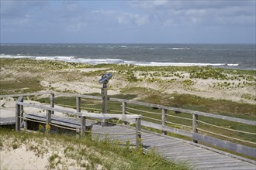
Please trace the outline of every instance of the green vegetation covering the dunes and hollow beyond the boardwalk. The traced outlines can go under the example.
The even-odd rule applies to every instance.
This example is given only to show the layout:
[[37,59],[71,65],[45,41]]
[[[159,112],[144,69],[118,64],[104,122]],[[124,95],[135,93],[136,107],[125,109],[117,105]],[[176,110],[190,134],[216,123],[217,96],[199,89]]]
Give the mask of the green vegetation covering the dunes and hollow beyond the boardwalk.
[[[59,61],[36,61],[30,59],[1,59],[0,66],[4,67],[6,70],[10,68],[11,70],[17,71],[29,71],[37,74],[36,77],[28,77],[28,79],[23,80],[19,85],[10,84],[9,81],[1,81],[0,93],[13,93],[13,92],[32,92],[36,90],[43,90],[43,87],[40,87],[39,79],[43,79],[41,72],[46,72],[47,70],[63,70],[68,68],[106,68],[106,70],[110,70],[110,72],[115,72],[117,75],[121,75],[124,77],[123,80],[128,81],[130,84],[134,82],[140,82],[140,78],[138,78],[135,74],[137,72],[141,72],[141,76],[145,76],[145,80],[150,82],[160,81],[157,80],[157,76],[164,77],[181,77],[184,76],[184,73],[190,73],[190,76],[197,79],[214,79],[214,80],[223,80],[223,83],[215,84],[215,88],[223,88],[229,90],[230,88],[236,88],[232,86],[255,86],[256,80],[256,71],[255,70],[227,70],[227,69],[214,69],[211,67],[198,67],[198,66],[189,66],[189,67],[175,67],[175,66],[125,66],[125,65],[116,65],[116,64],[100,64],[100,65],[87,65],[82,63],[64,63]],[[99,76],[101,73],[104,73],[102,70],[91,71],[89,73],[76,73],[74,75],[68,76],[68,74],[61,73],[61,75],[66,75],[65,77],[68,80],[79,80],[83,76],[93,77]],[[10,73],[11,74],[11,73]],[[12,76],[5,74],[5,76]],[[5,77],[3,77],[5,78]],[[29,80],[29,84],[27,83]],[[237,80],[236,84],[224,83],[224,81],[228,80]],[[171,81],[176,81],[171,80]],[[160,83],[164,83],[161,82]],[[192,82],[189,80],[184,80],[184,83],[190,85]],[[19,87],[20,86],[20,87]],[[29,87],[32,86],[32,87]],[[22,87],[27,87],[28,89],[22,90]],[[94,93],[96,94],[96,93]],[[147,94],[147,95],[145,95]],[[96,94],[96,95],[99,95]],[[211,98],[198,97],[191,94],[178,94],[178,93],[162,93],[159,90],[154,90],[150,88],[144,87],[126,87],[121,90],[121,94],[112,96],[117,98],[126,98],[126,99],[139,99],[146,102],[154,103],[154,104],[162,104],[171,107],[180,107],[191,110],[199,110],[214,114],[223,114],[230,117],[240,117],[248,120],[256,119],[256,105],[255,104],[245,104],[238,103],[230,100],[213,100]],[[255,98],[251,98],[250,94],[246,94],[244,97],[255,100]],[[40,99],[42,102],[48,103],[48,99]],[[68,97],[59,97],[56,99],[57,104],[66,104],[66,105],[75,105],[75,100]],[[85,100],[85,104],[83,107],[101,107],[101,103],[99,101],[94,100]],[[135,107],[137,109],[142,109],[142,107]],[[152,108],[143,108],[149,111],[157,111],[161,112],[161,110],[152,110]],[[121,110],[120,104],[115,102],[109,103],[109,110]],[[92,110],[96,111],[96,110]],[[141,113],[135,113],[141,114]],[[175,115],[174,113],[170,113]],[[189,117],[185,114],[180,114],[182,117]],[[161,119],[161,117],[152,116],[154,118]],[[230,123],[227,121],[215,120],[213,118],[200,117],[201,121],[206,121],[211,124],[221,125],[227,128],[233,128],[242,131],[251,131],[254,132],[253,126],[244,126],[243,124]],[[149,120],[147,120],[149,121]],[[174,121],[175,123],[182,123],[185,125],[191,125],[191,121],[181,121],[179,119],[171,118],[168,121]],[[152,121],[154,122],[154,121]],[[206,124],[199,124],[200,128],[205,130],[210,130],[214,132],[220,132],[221,134],[229,135],[235,138],[241,138],[249,141],[255,141],[254,137],[250,135],[244,135],[240,133],[230,133],[227,131],[222,131],[217,128],[213,128]],[[173,125],[170,125],[173,126]],[[175,126],[175,128],[179,128]],[[241,144],[245,145],[241,142]],[[251,146],[251,145],[249,145]],[[254,147],[254,146],[253,146]]]

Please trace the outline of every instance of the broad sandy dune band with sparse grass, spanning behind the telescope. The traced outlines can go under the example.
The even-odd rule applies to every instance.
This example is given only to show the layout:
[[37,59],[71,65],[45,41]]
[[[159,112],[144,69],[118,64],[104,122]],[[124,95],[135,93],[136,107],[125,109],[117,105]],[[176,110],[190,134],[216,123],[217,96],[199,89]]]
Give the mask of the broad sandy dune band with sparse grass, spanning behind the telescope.
[[[8,63],[9,65],[2,62],[4,63],[0,66],[2,93],[22,93],[22,91],[33,90],[33,88],[35,90],[37,88],[38,90],[56,90],[83,94],[101,93],[102,84],[99,83],[99,79],[102,73],[112,73],[112,80],[109,80],[108,84],[109,95],[123,93],[127,89],[139,87],[165,94],[187,93],[215,100],[256,104],[256,76],[254,74],[241,75],[236,70],[232,74],[221,73],[218,70],[213,70],[213,73],[211,73],[206,70],[208,74],[226,77],[213,79],[211,76],[208,78],[192,78],[196,75],[192,75],[193,72],[202,73],[200,68],[190,72],[174,71],[171,70],[171,67],[163,71],[154,71],[154,67],[150,68],[151,70],[137,71],[135,66],[123,66],[123,68],[120,66],[121,68],[116,68],[109,65],[106,67],[80,68],[69,63],[58,62],[51,63],[53,68],[49,69],[47,68],[48,61],[45,61],[44,65],[42,64],[43,61],[29,60],[29,62]],[[65,64],[69,65],[66,66]],[[70,68],[56,69],[56,67],[61,66]],[[135,80],[133,80],[134,78]],[[30,81],[27,82],[27,80]],[[20,86],[19,83],[21,83]],[[9,87],[9,84],[14,87]],[[140,93],[140,90],[138,93]]]

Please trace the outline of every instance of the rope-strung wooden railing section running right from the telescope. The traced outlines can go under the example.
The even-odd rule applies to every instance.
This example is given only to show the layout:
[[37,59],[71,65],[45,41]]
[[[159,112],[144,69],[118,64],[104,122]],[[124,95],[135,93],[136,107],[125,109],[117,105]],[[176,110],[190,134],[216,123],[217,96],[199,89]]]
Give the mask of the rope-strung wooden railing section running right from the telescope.
[[[133,100],[121,100],[121,99],[116,99],[116,98],[110,98],[109,100],[112,101],[119,101],[122,102],[122,106],[123,106],[123,114],[132,114],[131,112],[127,111],[127,110],[135,110],[135,111],[140,111],[140,113],[147,113],[147,114],[158,114],[156,112],[149,112],[149,111],[145,111],[145,110],[138,110],[138,109],[133,109],[131,107],[127,107],[127,104],[133,104],[133,105],[140,105],[140,106],[144,106],[144,107],[153,107],[154,109],[160,109],[161,113],[158,114],[161,116],[161,120],[157,120],[155,118],[152,117],[148,117],[147,119],[149,120],[153,120],[153,121],[159,121],[160,123],[153,123],[153,122],[149,122],[149,121],[141,121],[141,125],[147,128],[154,128],[157,130],[161,130],[163,134],[167,134],[167,132],[171,132],[174,134],[180,134],[183,135],[185,137],[189,137],[192,138],[192,141],[197,143],[198,141],[201,141],[203,143],[209,144],[209,145],[214,145],[216,147],[220,147],[220,148],[225,148],[228,149],[230,151],[235,151],[237,153],[240,154],[244,154],[244,155],[248,155],[251,157],[256,157],[256,149],[255,148],[251,148],[251,147],[247,147],[244,145],[239,145],[236,144],[234,142],[231,141],[226,141],[220,138],[213,138],[211,136],[205,135],[205,134],[199,134],[198,131],[203,131],[209,134],[216,134],[216,135],[220,135],[220,137],[223,138],[230,138],[230,139],[234,139],[237,141],[243,141],[246,143],[249,143],[251,145],[256,146],[256,143],[254,141],[246,141],[246,140],[241,140],[238,138],[232,138],[230,136],[226,136],[223,134],[217,134],[214,133],[212,131],[206,131],[202,128],[199,128],[199,123],[200,124],[208,124],[204,121],[199,121],[199,116],[203,116],[203,117],[213,117],[213,118],[217,118],[217,119],[221,119],[221,120],[225,120],[225,121],[233,121],[233,122],[237,122],[237,123],[242,123],[242,124],[247,124],[247,125],[253,125],[254,129],[256,128],[256,121],[248,121],[248,120],[244,120],[244,119],[240,119],[240,118],[236,118],[236,117],[227,117],[227,116],[222,116],[222,115],[218,115],[218,114],[209,114],[209,113],[205,113],[205,112],[200,112],[200,111],[195,111],[195,110],[185,110],[185,109],[181,109],[181,108],[175,108],[175,107],[165,107],[162,105],[158,105],[158,104],[148,104],[148,103],[144,103],[144,102],[139,102],[139,101],[133,101]],[[192,118],[186,118],[186,117],[178,117],[178,116],[173,116],[171,114],[167,114],[168,110],[174,111],[176,114],[192,114]],[[144,114],[143,114],[143,118],[142,120],[144,120]],[[186,126],[184,124],[175,124],[174,122],[169,122],[167,121],[167,117],[178,117],[184,120],[189,120],[192,121],[192,127]],[[192,128],[192,131],[185,131],[182,129],[178,129],[178,128],[171,128],[170,126],[167,126],[167,124],[175,124],[175,125],[180,125],[183,126],[185,128]],[[217,127],[217,128],[223,128],[220,126],[216,126],[214,124],[209,124],[210,126],[213,127]],[[231,128],[223,128],[225,130],[230,130],[230,131],[237,131]],[[256,137],[256,133],[254,132],[247,132],[247,131],[237,131],[240,133],[244,133],[244,134],[252,134],[254,135],[254,138]]]

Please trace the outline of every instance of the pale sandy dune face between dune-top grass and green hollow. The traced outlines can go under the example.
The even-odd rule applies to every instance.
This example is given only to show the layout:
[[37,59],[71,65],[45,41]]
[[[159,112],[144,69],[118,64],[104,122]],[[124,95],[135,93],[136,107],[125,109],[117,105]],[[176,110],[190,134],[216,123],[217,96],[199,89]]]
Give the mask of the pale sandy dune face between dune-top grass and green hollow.
[[[39,67],[38,70],[42,70]],[[256,104],[255,82],[247,80],[246,75],[225,74],[228,79],[202,79],[191,78],[192,73],[164,70],[157,72],[132,71],[135,81],[128,80],[128,71],[116,70],[114,67],[100,68],[68,68],[62,70],[45,70],[33,72],[26,70],[19,72],[15,67],[2,67],[2,81],[12,82],[16,78],[27,76],[39,76],[40,86],[43,90],[56,90],[71,93],[101,93],[102,84],[99,79],[102,75],[100,70],[108,70],[112,73],[112,80],[109,81],[108,93],[115,95],[133,87],[144,87],[159,91],[159,93],[192,94],[199,97],[213,98],[216,100],[231,100],[240,103]],[[6,76],[9,74],[10,76]],[[221,75],[222,73],[220,73]],[[224,73],[223,73],[224,74]],[[237,77],[234,79],[234,77]],[[230,79],[232,78],[232,79]],[[255,79],[255,77],[254,77]],[[22,89],[19,89],[22,90]],[[24,90],[24,89],[23,89]],[[139,92],[138,92],[139,93]]]

